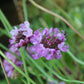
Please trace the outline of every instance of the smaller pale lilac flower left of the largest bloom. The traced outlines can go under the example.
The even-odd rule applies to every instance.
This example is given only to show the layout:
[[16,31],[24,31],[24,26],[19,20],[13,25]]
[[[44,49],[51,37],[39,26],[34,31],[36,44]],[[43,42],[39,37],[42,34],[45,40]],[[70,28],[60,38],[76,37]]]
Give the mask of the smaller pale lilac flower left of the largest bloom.
[[19,27],[19,29],[15,27],[15,29],[11,30],[10,32],[12,39],[10,39],[9,42],[10,44],[14,44],[16,48],[28,44],[33,32],[30,28],[29,22],[27,21],[25,21],[24,24],[20,24]]

